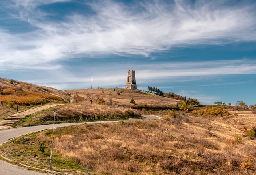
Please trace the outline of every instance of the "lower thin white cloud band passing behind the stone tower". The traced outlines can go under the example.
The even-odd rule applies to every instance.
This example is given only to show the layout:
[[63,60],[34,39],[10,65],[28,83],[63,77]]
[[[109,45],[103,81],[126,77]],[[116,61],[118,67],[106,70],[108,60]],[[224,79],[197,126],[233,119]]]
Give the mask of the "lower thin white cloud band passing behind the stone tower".
[[[168,84],[161,85],[161,89],[184,88],[193,86],[224,86],[232,84],[246,84],[247,81],[223,82],[222,77],[241,74],[256,74],[255,60],[222,60],[205,62],[165,62],[152,64],[103,64],[90,65],[86,69],[77,66],[75,69],[62,66],[53,70],[44,70],[26,76],[26,82],[47,85],[57,89],[90,88],[93,72],[93,87],[124,87],[126,84],[127,70],[136,71],[136,83],[150,82],[162,84],[163,82],[198,82],[200,84],[186,84],[185,86]],[[210,71],[209,71],[210,70]],[[28,72],[29,74],[29,72]],[[207,83],[204,83],[207,82]],[[43,83],[43,84],[42,84]],[[55,84],[55,85],[54,85]],[[154,86],[154,85],[153,85]],[[178,86],[178,87],[177,87]],[[182,94],[181,94],[182,95]],[[186,96],[186,95],[185,95]]]

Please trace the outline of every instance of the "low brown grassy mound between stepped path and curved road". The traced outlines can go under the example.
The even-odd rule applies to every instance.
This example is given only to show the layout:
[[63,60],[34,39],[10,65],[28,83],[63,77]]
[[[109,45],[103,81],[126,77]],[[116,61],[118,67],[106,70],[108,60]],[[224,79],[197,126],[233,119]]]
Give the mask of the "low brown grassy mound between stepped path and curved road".
[[[98,104],[66,104],[58,107],[56,114],[56,122],[76,122],[76,121],[94,121],[94,120],[112,120],[112,119],[128,119],[141,118],[138,110],[126,107],[113,107]],[[28,115],[12,126],[30,125],[33,123],[53,122],[54,114],[52,109],[45,109],[33,115]]]

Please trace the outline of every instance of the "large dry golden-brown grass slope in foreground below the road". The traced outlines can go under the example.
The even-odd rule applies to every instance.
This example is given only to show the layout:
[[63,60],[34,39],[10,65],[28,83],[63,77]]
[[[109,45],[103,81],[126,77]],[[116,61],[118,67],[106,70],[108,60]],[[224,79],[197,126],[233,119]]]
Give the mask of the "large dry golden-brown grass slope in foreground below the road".
[[[244,124],[247,122],[250,121]],[[166,134],[161,133],[162,128],[168,129]],[[14,153],[28,149],[36,140],[45,143],[49,152],[50,133],[39,133],[16,150],[9,145],[4,154],[22,161],[22,156]],[[238,175],[246,172],[240,166],[246,155],[252,155],[253,162],[256,160],[256,140],[243,135],[240,128],[220,117],[195,117],[180,112],[180,116],[166,120],[58,128],[54,150],[56,155],[78,162],[81,167],[89,163],[90,171],[100,174]],[[37,154],[31,153],[31,161],[40,158],[34,157]],[[48,162],[42,166],[47,168]],[[253,165],[249,173],[254,174],[255,170]]]

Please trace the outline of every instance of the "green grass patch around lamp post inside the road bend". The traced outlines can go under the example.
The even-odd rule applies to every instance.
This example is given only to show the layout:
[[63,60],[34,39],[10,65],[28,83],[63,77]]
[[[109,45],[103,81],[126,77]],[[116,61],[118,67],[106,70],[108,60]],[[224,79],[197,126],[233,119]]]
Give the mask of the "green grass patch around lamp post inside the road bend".
[[[18,137],[8,143],[4,143],[0,148],[0,152],[5,157],[24,165],[48,169],[52,141],[49,137],[50,132],[50,130],[47,130]],[[66,159],[56,153],[53,156],[54,171],[66,172],[68,169],[68,173],[78,174],[78,172],[85,172],[85,169],[80,167],[78,161]]]

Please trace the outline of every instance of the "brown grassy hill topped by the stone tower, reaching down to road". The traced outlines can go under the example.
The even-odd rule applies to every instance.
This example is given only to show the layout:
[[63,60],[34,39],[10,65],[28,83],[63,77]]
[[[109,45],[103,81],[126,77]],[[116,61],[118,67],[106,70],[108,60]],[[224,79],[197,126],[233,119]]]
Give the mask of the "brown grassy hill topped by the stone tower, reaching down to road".
[[[138,118],[142,112],[132,109],[134,107],[170,108],[179,103],[175,99],[130,89],[80,89],[65,92],[71,94],[74,101],[58,107],[57,122]],[[92,97],[92,103],[88,95]],[[130,103],[131,99],[134,99],[136,105]],[[145,110],[144,113],[148,113]],[[46,109],[25,117],[13,126],[52,122],[52,117],[52,109]]]

